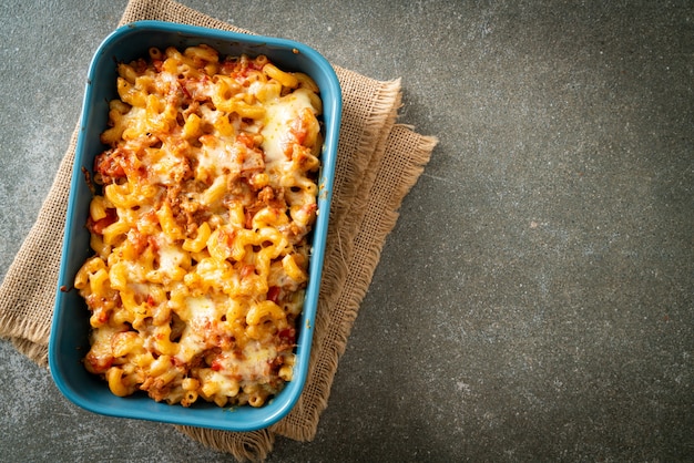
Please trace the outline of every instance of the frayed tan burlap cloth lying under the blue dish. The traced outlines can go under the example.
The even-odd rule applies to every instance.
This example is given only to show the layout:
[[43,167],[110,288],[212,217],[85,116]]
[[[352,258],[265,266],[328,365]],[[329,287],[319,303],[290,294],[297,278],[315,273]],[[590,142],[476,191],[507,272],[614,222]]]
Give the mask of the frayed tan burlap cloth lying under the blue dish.
[[[248,32],[171,0],[132,0],[120,24],[153,19]],[[309,375],[292,412],[269,429],[223,432],[176,426],[237,460],[263,460],[275,435],[312,440],[327,407],[339,357],[397,209],[437,141],[396,124],[400,82],[380,82],[335,66],[344,99],[338,163]],[[61,258],[76,128],[37,222],[0,286],[0,337],[41,366]]]

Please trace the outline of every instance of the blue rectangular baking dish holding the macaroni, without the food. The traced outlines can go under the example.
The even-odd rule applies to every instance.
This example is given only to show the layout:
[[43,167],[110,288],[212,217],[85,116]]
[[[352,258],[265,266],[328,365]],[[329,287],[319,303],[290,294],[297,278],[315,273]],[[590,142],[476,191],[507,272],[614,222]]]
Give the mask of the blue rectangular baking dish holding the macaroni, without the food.
[[[309,282],[298,326],[294,379],[279,394],[261,408],[248,405],[233,409],[218,408],[214,403],[208,404],[204,401],[183,408],[157,403],[144,393],[127,398],[113,395],[106,382],[88,373],[82,364],[82,358],[89,350],[89,311],[76,290],[69,289],[72,288],[74,276],[82,263],[93,254],[89,246],[89,230],[84,225],[91,193],[84,179],[83,169],[91,172],[94,156],[104,150],[100,142],[100,134],[106,127],[108,102],[118,96],[116,63],[147,56],[147,50],[151,47],[185,48],[200,43],[217,49],[222,55],[266,54],[285,70],[305,72],[320,88],[324,103],[325,145],[319,178],[319,214],[312,238]],[[68,204],[59,288],[49,342],[49,364],[53,380],[70,401],[104,415],[227,431],[263,429],[277,422],[292,410],[302,393],[308,371],[325,255],[340,114],[341,93],[335,71],[320,54],[302,43],[160,21],[126,24],[103,41],[92,60],[86,81]]]

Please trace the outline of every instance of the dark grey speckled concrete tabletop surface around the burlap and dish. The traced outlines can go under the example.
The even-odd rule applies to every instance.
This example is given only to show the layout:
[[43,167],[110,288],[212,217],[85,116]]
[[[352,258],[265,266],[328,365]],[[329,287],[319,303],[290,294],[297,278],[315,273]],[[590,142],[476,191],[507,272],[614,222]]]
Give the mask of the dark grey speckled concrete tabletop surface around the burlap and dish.
[[[691,1],[183,3],[402,78],[440,138],[315,441],[269,461],[694,459]],[[0,276],[125,1],[84,4],[0,0]],[[1,461],[228,460],[0,359]]]

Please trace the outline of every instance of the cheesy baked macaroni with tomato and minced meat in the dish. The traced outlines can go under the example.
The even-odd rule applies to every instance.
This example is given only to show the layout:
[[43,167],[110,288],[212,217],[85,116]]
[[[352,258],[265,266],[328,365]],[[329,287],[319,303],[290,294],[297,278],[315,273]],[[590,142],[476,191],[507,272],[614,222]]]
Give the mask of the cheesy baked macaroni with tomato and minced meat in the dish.
[[205,44],[118,64],[96,156],[85,368],[120,397],[261,407],[292,380],[317,214],[306,74]]

